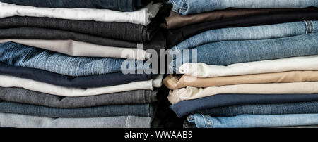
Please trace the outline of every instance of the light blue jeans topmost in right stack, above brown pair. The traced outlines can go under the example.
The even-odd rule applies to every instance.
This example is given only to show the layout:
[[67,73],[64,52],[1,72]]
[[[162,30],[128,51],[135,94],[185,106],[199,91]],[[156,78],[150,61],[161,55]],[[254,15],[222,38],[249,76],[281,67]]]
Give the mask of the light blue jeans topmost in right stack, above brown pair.
[[318,7],[317,0],[170,0],[173,11],[182,15],[225,8],[307,8]]

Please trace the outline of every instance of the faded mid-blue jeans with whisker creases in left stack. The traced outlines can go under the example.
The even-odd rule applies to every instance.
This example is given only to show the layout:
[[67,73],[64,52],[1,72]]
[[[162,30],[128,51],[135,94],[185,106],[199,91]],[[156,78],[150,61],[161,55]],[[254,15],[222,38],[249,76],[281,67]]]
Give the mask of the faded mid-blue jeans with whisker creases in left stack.
[[[0,62],[19,67],[47,70],[72,77],[121,72],[121,65],[124,61],[124,59],[119,58],[66,56],[61,53],[54,53],[13,42],[0,44]],[[135,60],[130,60],[129,63],[135,63],[137,70],[143,70],[143,63]],[[148,64],[145,64],[145,67],[146,70],[149,69]],[[134,69],[126,70],[134,72]]]

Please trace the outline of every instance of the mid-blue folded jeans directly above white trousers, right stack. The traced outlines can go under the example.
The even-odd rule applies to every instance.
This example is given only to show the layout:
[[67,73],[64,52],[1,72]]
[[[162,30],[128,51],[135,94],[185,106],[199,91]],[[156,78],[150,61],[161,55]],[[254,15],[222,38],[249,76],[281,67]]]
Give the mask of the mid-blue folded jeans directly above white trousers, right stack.
[[[208,65],[231,65],[293,56],[310,56],[318,54],[318,33],[281,39],[221,41],[204,44],[194,49],[197,50],[197,62]],[[175,63],[177,65],[191,63],[191,57],[191,52],[189,56],[179,56],[170,63],[170,71],[176,71]]]

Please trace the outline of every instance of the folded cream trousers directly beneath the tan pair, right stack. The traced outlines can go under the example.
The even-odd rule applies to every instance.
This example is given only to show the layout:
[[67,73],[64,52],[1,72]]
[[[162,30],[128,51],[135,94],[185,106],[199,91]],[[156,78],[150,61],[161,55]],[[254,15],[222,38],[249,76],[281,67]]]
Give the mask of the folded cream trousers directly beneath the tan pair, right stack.
[[187,88],[172,90],[168,99],[172,104],[180,101],[204,98],[217,94],[312,94],[318,93],[318,82],[296,82],[282,84],[239,84],[228,86],[211,86],[207,88]]

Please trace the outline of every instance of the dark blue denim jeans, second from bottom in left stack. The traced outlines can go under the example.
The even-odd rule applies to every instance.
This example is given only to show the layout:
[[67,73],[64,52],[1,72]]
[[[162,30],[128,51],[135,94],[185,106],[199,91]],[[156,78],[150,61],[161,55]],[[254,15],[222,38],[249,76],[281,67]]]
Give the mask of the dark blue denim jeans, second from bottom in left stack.
[[150,104],[104,105],[88,108],[49,108],[40,105],[0,102],[0,112],[40,117],[88,118],[125,115],[153,117],[153,111],[154,107]]

